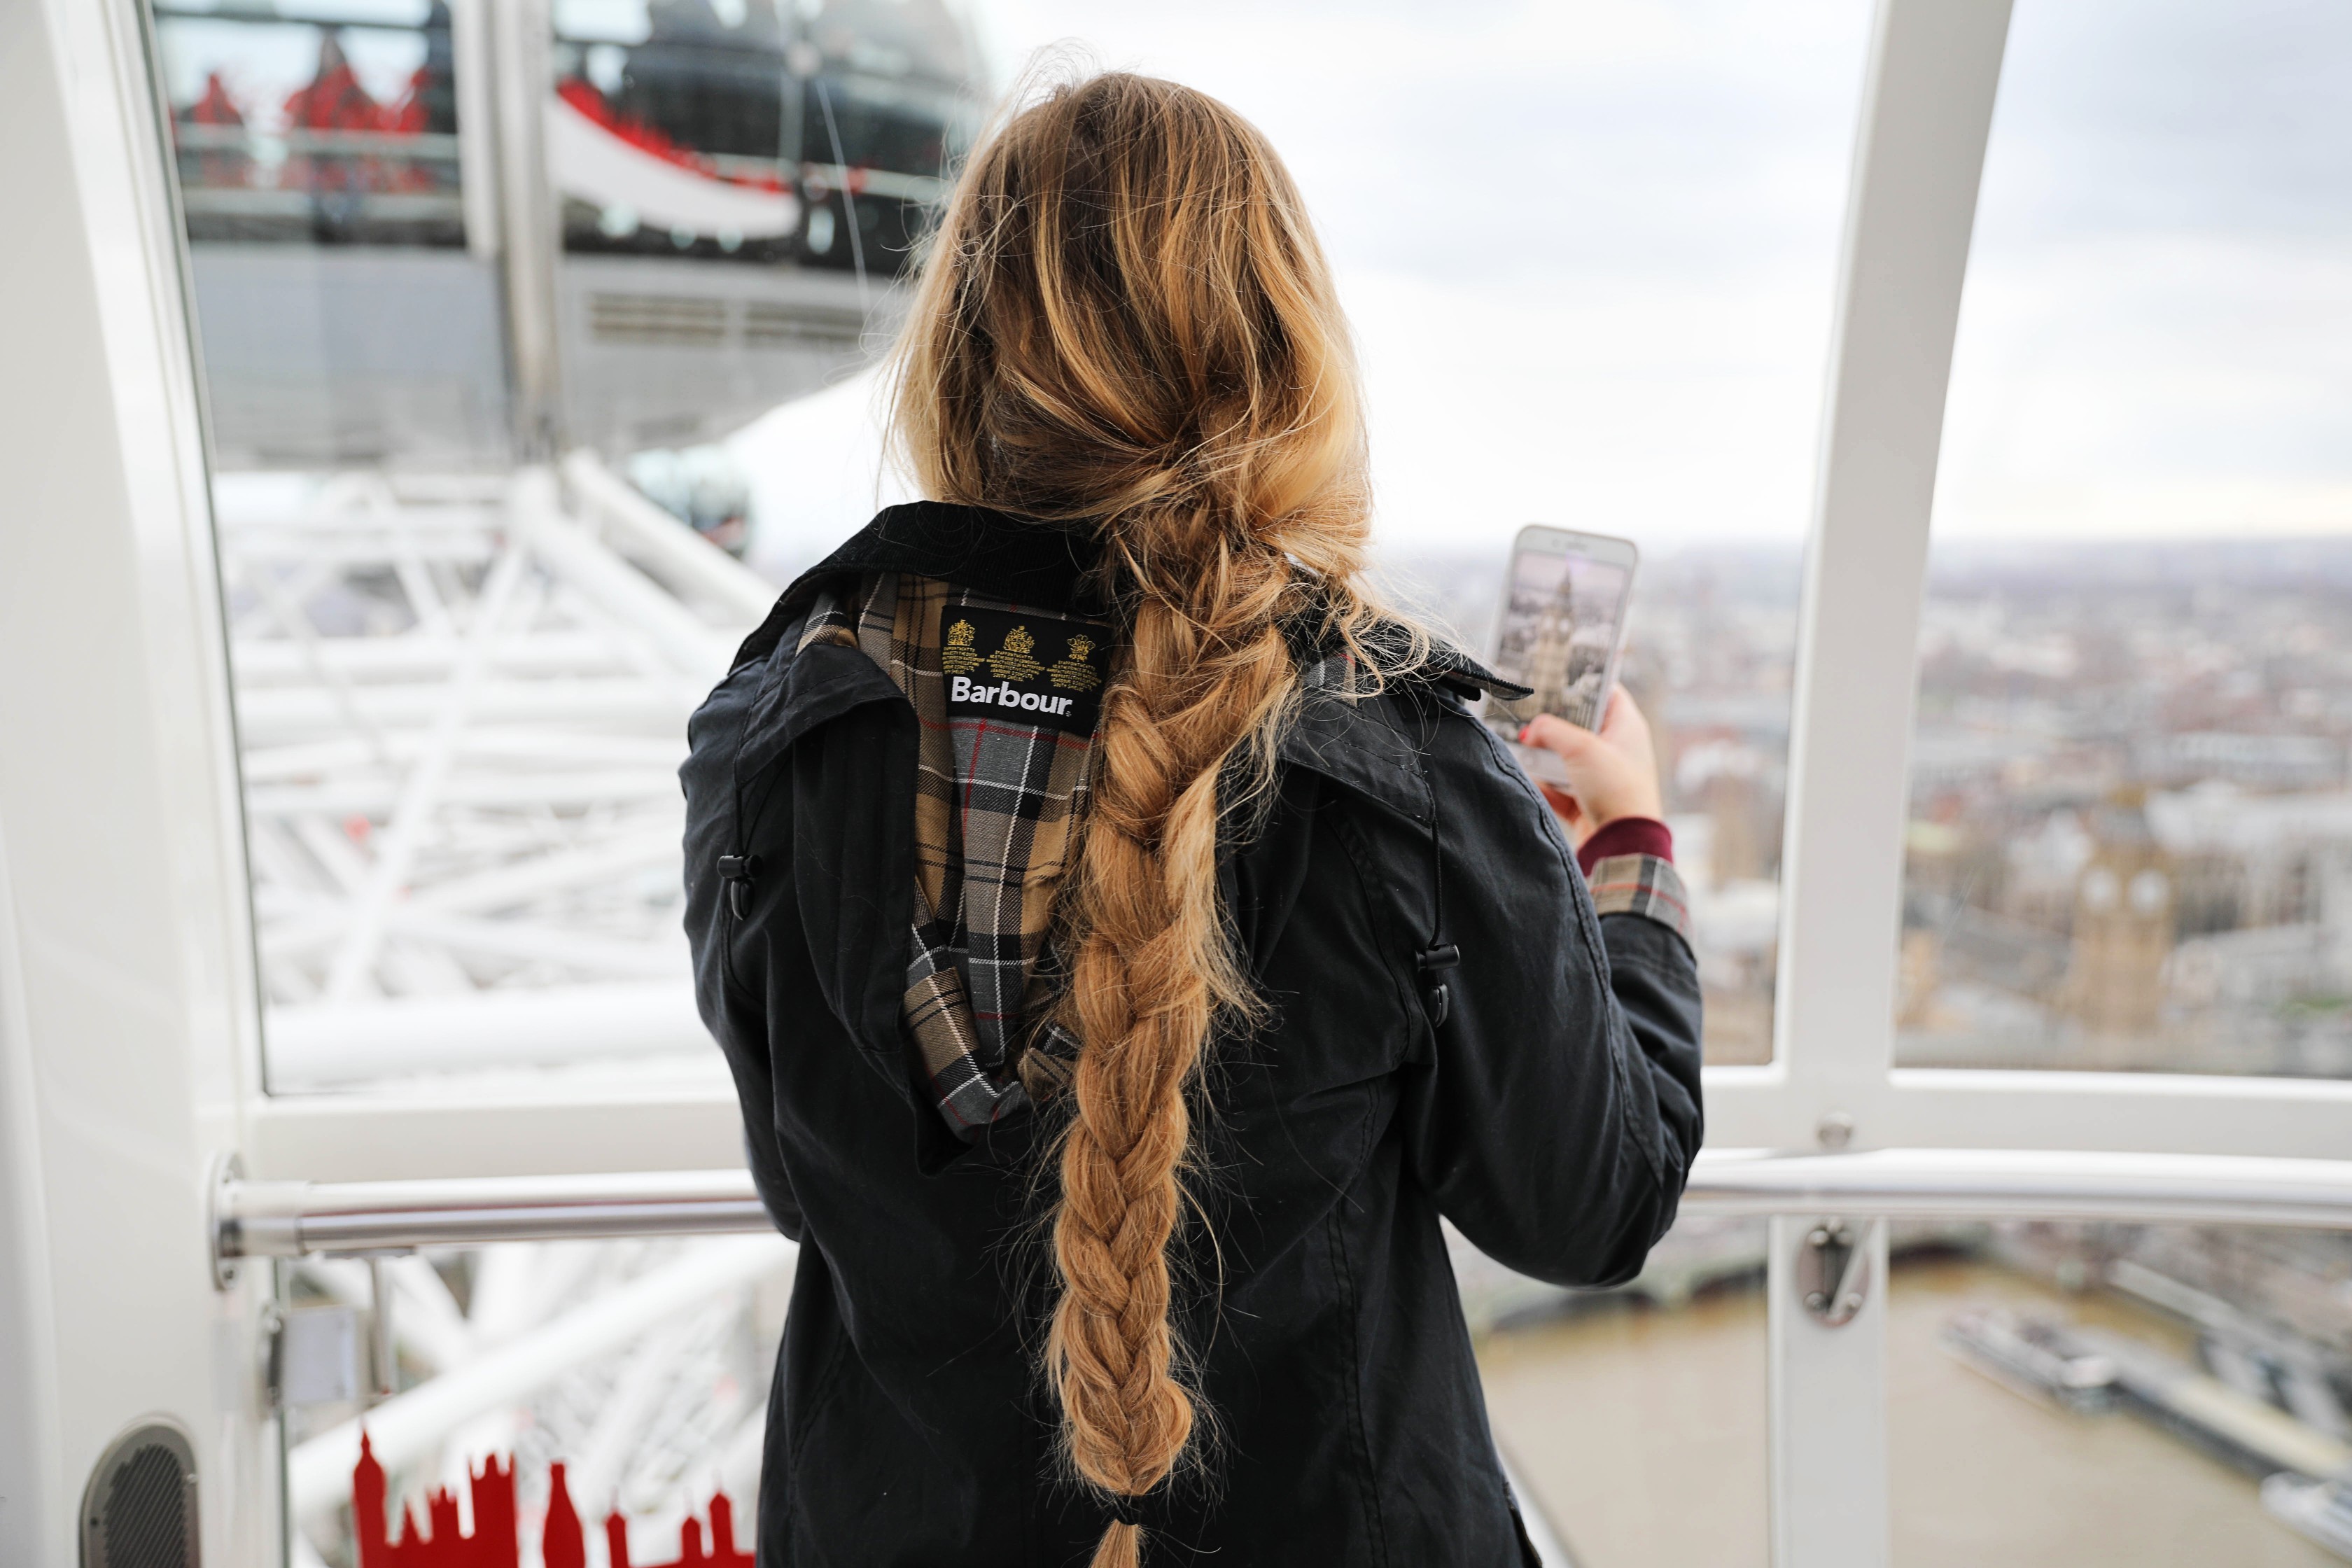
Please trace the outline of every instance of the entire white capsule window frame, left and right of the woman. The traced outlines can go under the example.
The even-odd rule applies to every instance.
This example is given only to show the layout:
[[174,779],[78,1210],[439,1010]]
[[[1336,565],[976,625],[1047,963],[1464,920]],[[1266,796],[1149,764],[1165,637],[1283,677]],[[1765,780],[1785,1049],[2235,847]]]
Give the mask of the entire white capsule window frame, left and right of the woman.
[[[134,14],[129,0],[0,14],[0,146],[71,153],[0,169],[24,230],[66,247],[0,249],[0,336],[82,376],[0,393],[0,475],[24,498],[0,531],[0,581],[61,585],[42,614],[0,616],[0,733],[19,755],[54,745],[52,766],[78,778],[108,766],[106,788],[66,792],[0,755],[0,1044],[31,1041],[0,1053],[0,1490],[66,1495],[146,1399],[186,1413],[209,1474],[266,1495],[254,1418],[216,1394],[238,1387],[252,1302],[193,1284],[209,1274],[207,1154],[313,1182],[706,1171],[736,1161],[741,1133],[717,1088],[261,1093],[198,393]],[[1875,1150],[2352,1159],[2352,1084],[1893,1067],[1929,508],[2006,21],[2006,0],[1879,0],[1872,24],[1797,665],[1776,1056],[1708,1072],[1712,1143],[1835,1145],[1858,1161],[1837,1166],[1849,1175],[1891,1159]],[[56,675],[75,693],[68,724],[28,701],[24,672],[82,649]],[[94,757],[92,738],[115,750]],[[136,985],[108,985],[118,976]],[[141,1140],[139,1159],[108,1140]],[[1804,1220],[1832,1199],[1886,1213],[1856,1180],[1755,1199],[1788,1215],[1769,1319],[1783,1568],[1889,1556],[1884,1291],[1823,1328],[1788,1288]],[[1884,1239],[1865,1244],[1884,1279]],[[132,1291],[169,1309],[141,1319],[141,1342],[92,1338]],[[33,1361],[47,1371],[21,1345],[45,1347]],[[207,1490],[207,1544],[259,1561],[245,1547],[266,1526],[233,1521],[235,1497]],[[64,1561],[71,1519],[21,1519],[0,1514],[0,1556],[14,1561],[9,1530],[31,1528],[26,1561]]]

